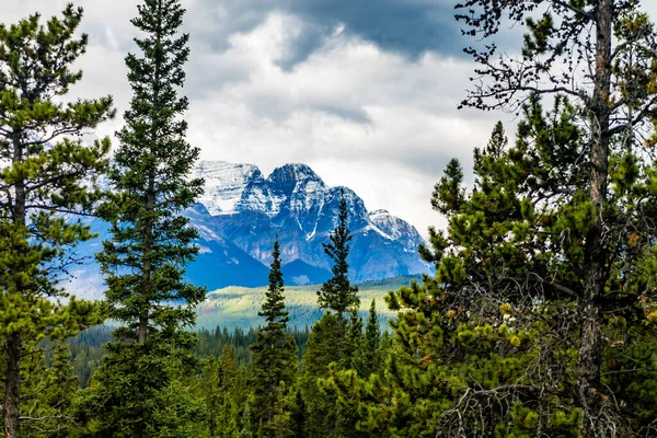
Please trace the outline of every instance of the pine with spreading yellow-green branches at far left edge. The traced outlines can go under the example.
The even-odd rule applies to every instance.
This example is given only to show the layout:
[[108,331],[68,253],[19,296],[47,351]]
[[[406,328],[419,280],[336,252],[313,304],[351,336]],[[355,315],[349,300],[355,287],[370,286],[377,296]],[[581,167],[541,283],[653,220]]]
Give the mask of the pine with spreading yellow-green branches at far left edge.
[[43,357],[46,335],[64,339],[101,321],[95,304],[58,286],[68,277],[66,268],[78,262],[71,249],[93,235],[71,216],[93,211],[100,198],[95,178],[110,151],[107,138],[85,146],[79,137],[115,113],[111,97],[62,103],[82,78],[71,70],[87,48],[87,35],[74,36],[81,19],[82,10],[68,5],[61,19],[45,25],[38,14],[0,25],[0,405],[5,438],[21,435],[22,385],[31,387],[32,378],[23,359]]

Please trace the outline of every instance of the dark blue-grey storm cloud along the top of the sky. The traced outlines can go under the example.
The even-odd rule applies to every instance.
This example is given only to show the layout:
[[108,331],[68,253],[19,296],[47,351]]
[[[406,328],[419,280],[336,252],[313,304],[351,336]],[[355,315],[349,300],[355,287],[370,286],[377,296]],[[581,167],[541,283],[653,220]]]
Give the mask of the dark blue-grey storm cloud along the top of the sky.
[[[459,55],[459,24],[453,2],[445,0],[200,0],[195,8],[215,20],[216,26],[203,31],[203,38],[216,49],[227,47],[227,35],[249,32],[272,12],[299,18],[303,26],[291,51],[279,64],[290,69],[320,48],[338,26],[359,37],[411,58],[426,51]],[[210,14],[208,18],[208,14]],[[197,18],[200,19],[200,18]],[[209,23],[208,23],[209,24]],[[194,25],[194,24],[193,24]],[[218,32],[219,31],[219,32]]]

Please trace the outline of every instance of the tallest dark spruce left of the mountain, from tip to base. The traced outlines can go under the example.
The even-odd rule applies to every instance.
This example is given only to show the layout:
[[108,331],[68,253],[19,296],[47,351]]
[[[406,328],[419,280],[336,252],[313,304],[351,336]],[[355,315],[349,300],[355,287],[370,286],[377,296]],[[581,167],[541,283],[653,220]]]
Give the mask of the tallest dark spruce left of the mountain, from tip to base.
[[187,178],[199,150],[185,140],[188,103],[177,96],[189,54],[188,35],[178,34],[185,11],[178,0],[145,0],[138,11],[131,23],[142,55],[126,57],[134,95],[110,172],[116,195],[104,209],[112,240],[97,254],[110,315],[123,325],[88,397],[102,434],[131,437],[163,427],[159,391],[171,384],[172,364],[193,364],[196,336],[185,327],[205,297],[183,278],[198,249],[182,211],[203,184]]

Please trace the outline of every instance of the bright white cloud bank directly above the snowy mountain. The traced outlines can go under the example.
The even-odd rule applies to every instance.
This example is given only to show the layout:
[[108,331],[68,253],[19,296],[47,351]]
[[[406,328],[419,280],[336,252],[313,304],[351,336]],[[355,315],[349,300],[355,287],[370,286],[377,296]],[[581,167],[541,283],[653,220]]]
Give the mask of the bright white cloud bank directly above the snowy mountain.
[[304,162],[326,183],[351,187],[369,209],[387,208],[422,233],[443,224],[429,206],[433,186],[452,157],[469,166],[494,123],[456,108],[471,66],[436,55],[410,62],[336,33],[285,71],[276,61],[296,25],[292,16],[272,14],[214,56],[212,65],[249,73],[192,103],[189,138],[203,157],[265,173]]

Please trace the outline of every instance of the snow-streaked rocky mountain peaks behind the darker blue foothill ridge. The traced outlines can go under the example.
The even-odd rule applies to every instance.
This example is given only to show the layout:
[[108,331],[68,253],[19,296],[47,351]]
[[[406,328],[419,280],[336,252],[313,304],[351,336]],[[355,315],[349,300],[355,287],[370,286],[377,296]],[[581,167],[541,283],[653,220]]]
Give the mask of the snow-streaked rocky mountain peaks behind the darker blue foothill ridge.
[[[209,215],[204,218],[204,227],[264,265],[272,262],[270,251],[278,234],[284,265],[296,262],[298,270],[303,262],[330,275],[331,263],[322,243],[328,241],[337,223],[344,191],[354,235],[348,260],[353,280],[428,272],[417,255],[423,239],[413,226],[385,210],[368,212],[350,188],[328,187],[306,164],[286,164],[265,177],[251,164],[205,161],[195,176],[206,182],[205,195],[199,199]],[[321,273],[318,275],[321,277]]]

